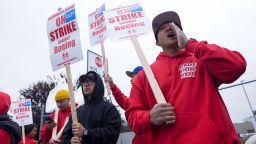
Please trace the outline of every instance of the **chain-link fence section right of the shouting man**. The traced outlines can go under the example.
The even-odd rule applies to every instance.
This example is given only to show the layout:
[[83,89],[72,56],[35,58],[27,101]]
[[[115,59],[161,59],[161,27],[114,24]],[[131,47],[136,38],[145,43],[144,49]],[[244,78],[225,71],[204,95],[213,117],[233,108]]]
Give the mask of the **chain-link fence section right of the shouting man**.
[[256,130],[256,79],[219,88],[237,133],[243,141]]

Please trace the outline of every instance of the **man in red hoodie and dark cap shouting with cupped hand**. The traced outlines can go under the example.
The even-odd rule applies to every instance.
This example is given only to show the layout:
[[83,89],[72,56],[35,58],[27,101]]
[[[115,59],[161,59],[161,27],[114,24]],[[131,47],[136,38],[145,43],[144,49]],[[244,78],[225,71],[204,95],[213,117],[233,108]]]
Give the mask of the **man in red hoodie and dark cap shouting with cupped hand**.
[[244,73],[243,56],[188,40],[173,11],[157,15],[152,27],[163,52],[151,69],[167,103],[157,104],[145,72],[140,72],[125,113],[129,126],[136,133],[152,131],[154,144],[239,144],[218,87]]

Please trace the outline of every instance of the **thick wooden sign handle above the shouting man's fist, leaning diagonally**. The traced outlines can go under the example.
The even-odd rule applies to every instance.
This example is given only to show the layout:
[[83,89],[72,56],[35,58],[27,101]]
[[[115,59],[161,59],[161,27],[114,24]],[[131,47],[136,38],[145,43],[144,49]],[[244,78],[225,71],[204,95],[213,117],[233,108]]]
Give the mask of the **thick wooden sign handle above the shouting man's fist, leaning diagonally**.
[[164,95],[163,95],[163,93],[162,93],[162,91],[161,91],[161,89],[160,89],[160,87],[159,87],[159,85],[158,85],[158,83],[157,83],[157,81],[154,77],[154,74],[153,74],[151,68],[149,67],[149,64],[146,60],[146,57],[145,57],[145,55],[144,55],[144,53],[143,53],[143,51],[140,47],[140,44],[139,44],[136,36],[131,36],[131,40],[132,40],[133,46],[136,50],[136,53],[137,53],[137,55],[140,59],[140,62],[143,66],[143,69],[146,73],[146,76],[148,78],[150,87],[151,87],[151,89],[152,89],[152,91],[155,95],[157,103],[166,103]]

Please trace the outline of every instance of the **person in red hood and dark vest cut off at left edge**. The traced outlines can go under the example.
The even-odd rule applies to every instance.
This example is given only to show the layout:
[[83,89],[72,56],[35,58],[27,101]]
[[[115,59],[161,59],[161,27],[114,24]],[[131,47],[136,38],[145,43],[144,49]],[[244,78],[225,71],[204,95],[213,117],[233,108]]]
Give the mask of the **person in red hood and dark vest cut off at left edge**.
[[0,143],[17,144],[21,140],[21,130],[19,125],[7,114],[11,98],[8,94],[0,92],[0,100]]

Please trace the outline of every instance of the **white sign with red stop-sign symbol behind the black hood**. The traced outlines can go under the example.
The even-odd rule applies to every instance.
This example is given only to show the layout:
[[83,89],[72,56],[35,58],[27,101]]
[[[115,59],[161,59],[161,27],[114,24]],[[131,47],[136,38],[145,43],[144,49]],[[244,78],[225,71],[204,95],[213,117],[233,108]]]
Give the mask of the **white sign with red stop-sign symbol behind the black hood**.
[[100,76],[103,76],[103,58],[102,56],[88,50],[87,51],[87,71],[95,71]]

